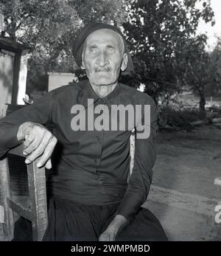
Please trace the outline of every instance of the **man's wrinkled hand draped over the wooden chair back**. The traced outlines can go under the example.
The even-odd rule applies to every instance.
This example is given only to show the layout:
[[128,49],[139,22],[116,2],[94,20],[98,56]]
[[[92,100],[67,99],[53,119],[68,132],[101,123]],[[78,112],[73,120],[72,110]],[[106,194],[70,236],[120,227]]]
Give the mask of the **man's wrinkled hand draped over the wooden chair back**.
[[47,169],[52,168],[50,157],[57,143],[56,137],[43,125],[35,122],[24,122],[18,128],[18,141],[24,139],[24,155],[27,156],[26,164],[38,159],[37,167],[43,165]]

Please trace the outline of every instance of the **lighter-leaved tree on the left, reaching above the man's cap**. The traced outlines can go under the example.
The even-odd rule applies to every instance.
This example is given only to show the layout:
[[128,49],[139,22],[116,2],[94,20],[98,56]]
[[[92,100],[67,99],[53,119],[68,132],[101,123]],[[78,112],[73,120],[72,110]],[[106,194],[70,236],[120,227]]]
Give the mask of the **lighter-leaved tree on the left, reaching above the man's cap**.
[[119,24],[122,6],[117,0],[0,0],[7,35],[32,47],[29,89],[46,89],[47,72],[74,72],[71,48],[80,29],[91,21]]

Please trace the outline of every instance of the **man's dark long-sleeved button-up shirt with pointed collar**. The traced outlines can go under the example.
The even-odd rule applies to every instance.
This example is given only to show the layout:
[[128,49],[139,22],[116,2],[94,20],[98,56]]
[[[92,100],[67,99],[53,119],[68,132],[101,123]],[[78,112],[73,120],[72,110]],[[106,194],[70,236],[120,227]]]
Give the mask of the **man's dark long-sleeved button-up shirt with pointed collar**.
[[[75,109],[77,104],[81,105],[79,111]],[[134,118],[134,122],[127,122],[133,119],[126,114],[125,123],[128,125],[125,125],[124,131],[119,128],[111,131],[108,130],[107,119],[99,120],[104,108],[99,110],[98,107],[97,113],[92,111],[97,106],[105,105],[110,110],[111,128],[111,106],[120,104],[133,107],[150,105],[150,118],[145,120],[144,115],[147,113],[142,111],[140,120]],[[47,181],[49,194],[81,204],[119,203],[116,214],[130,221],[146,200],[152,181],[156,113],[151,97],[121,83],[111,94],[102,98],[94,92],[88,80],[62,86],[0,120],[0,156],[18,145],[16,135],[23,122],[38,122],[42,125],[51,122],[52,133],[58,143],[54,152],[55,161],[52,162],[54,165]],[[80,114],[85,118],[76,122]],[[91,128],[88,124],[91,118],[94,123],[99,122],[105,128]],[[124,119],[122,116],[118,118]],[[136,138],[133,172],[127,181],[130,170],[130,134],[133,128],[136,129],[144,122],[150,128],[150,136],[146,139]],[[81,127],[85,127],[85,130],[81,128],[76,131],[77,124],[83,125]]]

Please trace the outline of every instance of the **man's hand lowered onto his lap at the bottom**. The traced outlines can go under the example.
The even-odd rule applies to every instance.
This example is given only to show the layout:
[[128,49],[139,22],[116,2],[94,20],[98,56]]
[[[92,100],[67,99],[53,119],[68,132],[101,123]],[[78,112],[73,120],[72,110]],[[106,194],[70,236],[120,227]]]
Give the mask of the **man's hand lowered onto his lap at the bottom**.
[[127,225],[127,223],[128,221],[124,216],[116,215],[105,232],[102,232],[99,236],[99,241],[115,241],[116,235]]

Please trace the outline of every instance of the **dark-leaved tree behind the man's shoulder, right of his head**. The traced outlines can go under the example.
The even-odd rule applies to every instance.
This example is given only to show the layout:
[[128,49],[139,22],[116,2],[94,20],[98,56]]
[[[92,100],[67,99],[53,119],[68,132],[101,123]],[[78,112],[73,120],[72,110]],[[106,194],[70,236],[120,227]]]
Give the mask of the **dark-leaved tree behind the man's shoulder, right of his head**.
[[196,36],[200,18],[214,23],[209,1],[128,0],[124,32],[135,60],[132,83],[143,83],[157,102],[159,95],[180,91],[185,75],[183,48]]

